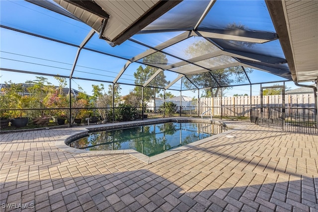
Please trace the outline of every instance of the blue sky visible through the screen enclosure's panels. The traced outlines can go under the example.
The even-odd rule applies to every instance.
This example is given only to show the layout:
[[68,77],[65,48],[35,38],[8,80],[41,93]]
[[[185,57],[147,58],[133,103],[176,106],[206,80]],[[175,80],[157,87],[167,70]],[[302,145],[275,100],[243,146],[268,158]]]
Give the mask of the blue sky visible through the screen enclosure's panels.
[[[227,1],[216,1],[214,7],[215,12],[209,13],[208,18],[214,18],[220,20],[215,21],[213,24],[218,27],[225,27],[225,25],[231,21],[231,16],[224,15],[222,13],[222,7],[228,4]],[[231,4],[235,4],[229,7],[228,13],[233,13],[237,16],[243,14],[247,6],[239,1],[231,1]],[[255,5],[254,5],[255,4]],[[268,21],[268,17],[259,17],[259,14],[263,14],[263,4],[258,4],[257,1],[249,1],[249,6],[253,6],[254,13],[248,14],[246,17],[239,19],[241,24],[245,24],[248,28],[253,30],[265,29],[273,31],[274,28]],[[198,6],[198,11],[200,11]],[[238,10],[237,8],[240,8]],[[191,6],[188,6],[191,11]],[[14,12],[12,12],[14,11]],[[151,27],[160,25],[160,21],[164,21],[169,15],[180,15],[176,11],[171,11],[166,16],[159,19]],[[187,14],[186,12],[184,14]],[[255,14],[258,14],[255,15]],[[217,18],[222,17],[222,18]],[[252,21],[250,21],[250,17]],[[259,21],[263,20],[263,25],[259,28]],[[84,37],[89,33],[90,27],[76,21],[71,18],[67,18],[63,15],[49,11],[32,3],[22,0],[0,0],[0,21],[1,25],[16,27],[21,30],[26,30],[32,33],[40,34],[42,36],[50,36],[52,39],[59,39],[64,42],[79,45]],[[157,25],[156,25],[157,24]],[[211,24],[209,21],[203,21],[202,27]],[[159,34],[152,34],[151,39],[146,39],[146,35],[139,34],[132,38],[137,41],[144,41],[147,45],[156,46],[163,41],[170,39],[181,32],[166,32]],[[78,48],[72,45],[65,45],[52,40],[42,39],[32,35],[16,32],[13,30],[0,28],[0,67],[7,69],[16,69],[29,71],[32,73],[47,73],[47,74],[58,74],[60,76],[70,76]],[[145,40],[146,39],[146,40]],[[175,44],[172,47],[164,49],[168,53],[176,54],[178,57],[186,58],[184,49],[193,41],[202,39],[200,37],[191,37],[185,41]],[[111,57],[108,55],[99,54],[89,50],[82,50],[79,55],[79,60],[73,75],[72,88],[78,89],[78,86],[84,89],[87,94],[91,94],[91,85],[100,84],[100,82],[94,81],[83,81],[78,78],[89,78],[94,80],[102,80],[112,82],[120,70],[125,66],[127,59],[133,58],[134,56],[145,52],[148,48],[145,46],[136,45],[132,41],[126,41],[122,45],[111,47],[104,40],[98,39],[98,34],[95,34],[92,39],[86,44],[87,48],[92,48],[98,51],[108,52],[110,54],[118,55],[119,57]],[[282,52],[275,54],[282,54]],[[276,55],[275,55],[276,56]],[[168,64],[180,62],[177,58],[167,56]],[[119,83],[134,84],[134,72],[140,66],[139,63],[132,63],[128,66],[124,74],[119,79]],[[167,80],[172,81],[177,77],[176,73],[165,71],[164,72]],[[16,72],[1,71],[0,82],[12,81],[13,83],[24,83],[27,80],[36,79],[36,74],[22,74]],[[49,81],[58,85],[57,80],[53,77],[44,76]],[[264,82],[264,81],[280,81],[284,78],[268,74],[263,71],[253,70],[249,75],[252,83]],[[68,80],[69,81],[69,80]],[[106,87],[109,85],[103,83]],[[306,84],[312,84],[306,83]],[[171,88],[180,86],[180,83],[174,85]],[[291,89],[296,88],[293,83],[288,83]],[[127,95],[129,91],[134,89],[133,86],[121,85],[122,96]],[[179,96],[180,92],[167,90],[175,96]],[[201,92],[202,93],[202,92]],[[226,92],[227,96],[235,94],[250,94],[250,86],[233,87]],[[252,95],[259,94],[259,85],[252,86]],[[197,91],[183,91],[183,96],[197,97]]]

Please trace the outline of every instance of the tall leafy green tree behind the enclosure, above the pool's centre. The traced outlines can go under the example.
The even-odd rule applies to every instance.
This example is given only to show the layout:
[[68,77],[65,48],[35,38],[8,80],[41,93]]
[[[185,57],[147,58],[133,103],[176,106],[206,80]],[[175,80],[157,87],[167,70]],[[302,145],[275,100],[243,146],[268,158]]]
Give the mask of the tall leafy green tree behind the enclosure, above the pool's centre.
[[[166,56],[161,52],[156,52],[152,55],[149,55],[143,59],[145,64],[160,64],[164,65],[167,64],[168,60]],[[147,80],[149,80],[156,72],[158,68],[147,65],[146,67],[139,66],[137,72],[134,73],[135,77],[135,84],[136,85],[143,85]],[[144,99],[150,100],[153,99],[155,103],[155,110],[156,110],[156,98],[157,94],[165,85],[169,84],[169,81],[165,80],[165,75],[163,72],[160,72],[157,77],[148,85],[149,87],[144,89]],[[142,96],[142,87],[136,86],[134,91],[138,96]]]

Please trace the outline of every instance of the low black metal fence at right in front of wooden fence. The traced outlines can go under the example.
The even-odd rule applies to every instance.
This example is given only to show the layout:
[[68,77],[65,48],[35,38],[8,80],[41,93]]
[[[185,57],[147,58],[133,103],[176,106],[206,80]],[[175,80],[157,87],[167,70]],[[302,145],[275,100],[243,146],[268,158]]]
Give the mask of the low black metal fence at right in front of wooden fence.
[[[302,111],[300,112],[299,109]],[[314,108],[254,107],[250,119],[260,126],[296,133],[318,134],[318,115]]]

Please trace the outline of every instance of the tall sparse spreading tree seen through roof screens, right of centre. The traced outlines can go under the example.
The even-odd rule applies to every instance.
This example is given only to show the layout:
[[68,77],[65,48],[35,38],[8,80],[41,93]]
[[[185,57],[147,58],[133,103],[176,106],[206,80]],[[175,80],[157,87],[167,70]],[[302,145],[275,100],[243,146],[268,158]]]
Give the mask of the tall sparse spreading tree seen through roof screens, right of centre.
[[[244,30],[244,25],[231,23],[227,26],[228,29]],[[251,42],[243,41],[230,41],[233,45],[252,47],[254,44]],[[197,40],[191,44],[186,50],[185,54],[191,57],[197,57],[204,54],[208,54],[214,51],[220,50],[218,47],[213,45],[208,40]],[[205,64],[227,64],[229,60],[232,60],[229,56],[218,56],[205,60]],[[252,72],[252,69],[245,68],[246,74]],[[217,97],[220,92],[220,86],[230,88],[234,83],[239,83],[246,80],[244,70],[241,67],[229,67],[225,69],[213,70],[210,73],[205,72],[201,74],[187,76],[188,79],[194,84],[198,85],[200,88],[210,88],[205,91],[206,97]],[[217,82],[218,83],[217,83]],[[185,87],[192,89],[193,86],[191,82],[184,80],[183,83]]]

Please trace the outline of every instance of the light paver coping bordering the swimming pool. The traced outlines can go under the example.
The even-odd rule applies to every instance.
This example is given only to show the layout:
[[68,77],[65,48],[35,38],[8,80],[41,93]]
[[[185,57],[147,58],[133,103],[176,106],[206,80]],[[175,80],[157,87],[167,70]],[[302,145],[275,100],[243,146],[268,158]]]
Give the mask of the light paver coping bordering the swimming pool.
[[[134,127],[134,126],[141,126],[141,125],[148,125],[148,124],[156,124],[156,123],[165,123],[165,122],[195,122],[195,123],[215,123],[218,125],[223,125],[229,128],[229,130],[221,132],[216,135],[212,135],[210,137],[192,142],[190,144],[186,144],[184,146],[176,147],[170,150],[167,150],[163,153],[158,155],[154,155],[149,157],[144,155],[136,150],[133,149],[124,149],[124,150],[103,150],[103,151],[87,151],[82,149],[76,149],[67,145],[71,140],[83,137],[88,135],[89,132],[94,131],[101,131],[101,130],[112,130],[112,129],[120,129],[126,127]],[[205,142],[214,140],[221,136],[226,136],[228,133],[232,132],[234,129],[240,129],[244,126],[234,126],[234,125],[227,125],[226,123],[222,122],[221,120],[211,120],[211,119],[200,119],[200,118],[184,118],[184,117],[173,117],[173,118],[157,118],[157,119],[147,119],[147,120],[135,120],[135,121],[127,121],[127,122],[116,122],[116,123],[106,123],[106,124],[99,124],[99,125],[90,125],[85,127],[74,128],[71,130],[71,133],[68,135],[64,135],[60,137],[56,142],[55,146],[62,151],[70,152],[73,154],[80,154],[80,155],[109,155],[109,154],[130,154],[131,156],[143,161],[146,164],[151,164],[156,162],[160,159],[169,157],[186,149],[195,147],[197,145],[203,144]]]

